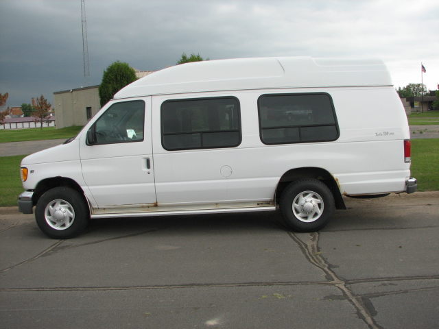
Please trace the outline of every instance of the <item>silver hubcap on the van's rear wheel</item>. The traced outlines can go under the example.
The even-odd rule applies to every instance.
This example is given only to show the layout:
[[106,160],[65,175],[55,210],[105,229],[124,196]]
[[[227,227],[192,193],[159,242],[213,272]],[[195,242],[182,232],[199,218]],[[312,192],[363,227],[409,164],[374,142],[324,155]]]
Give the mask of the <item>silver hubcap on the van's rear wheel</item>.
[[292,209],[299,221],[310,223],[322,215],[323,199],[316,192],[305,191],[294,198]]

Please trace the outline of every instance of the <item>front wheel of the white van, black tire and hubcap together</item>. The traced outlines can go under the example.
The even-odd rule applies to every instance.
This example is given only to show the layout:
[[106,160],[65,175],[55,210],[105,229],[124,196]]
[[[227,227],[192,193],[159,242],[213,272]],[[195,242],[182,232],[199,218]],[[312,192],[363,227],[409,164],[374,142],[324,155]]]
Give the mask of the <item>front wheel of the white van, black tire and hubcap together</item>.
[[84,195],[69,187],[51,188],[38,200],[35,219],[52,239],[70,239],[87,226],[90,212]]

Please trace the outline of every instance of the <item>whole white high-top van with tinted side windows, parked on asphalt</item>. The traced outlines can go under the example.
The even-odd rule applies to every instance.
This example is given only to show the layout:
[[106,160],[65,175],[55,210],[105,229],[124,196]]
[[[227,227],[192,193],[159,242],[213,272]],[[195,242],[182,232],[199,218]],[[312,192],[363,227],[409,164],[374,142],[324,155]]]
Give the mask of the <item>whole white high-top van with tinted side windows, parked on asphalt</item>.
[[323,228],[342,195],[413,193],[410,132],[381,60],[173,66],[121,89],[82,131],[21,162],[19,210],[67,239],[88,219],[280,208]]

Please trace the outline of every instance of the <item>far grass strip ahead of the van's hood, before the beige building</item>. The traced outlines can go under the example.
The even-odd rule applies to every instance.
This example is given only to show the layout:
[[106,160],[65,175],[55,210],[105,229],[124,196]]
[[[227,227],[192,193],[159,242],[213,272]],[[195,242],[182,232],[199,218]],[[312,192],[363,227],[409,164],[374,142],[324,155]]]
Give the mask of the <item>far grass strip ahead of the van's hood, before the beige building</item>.
[[0,143],[24,142],[24,141],[43,141],[45,139],[62,139],[74,137],[80,132],[82,126],[65,127],[56,129],[55,127],[0,130]]

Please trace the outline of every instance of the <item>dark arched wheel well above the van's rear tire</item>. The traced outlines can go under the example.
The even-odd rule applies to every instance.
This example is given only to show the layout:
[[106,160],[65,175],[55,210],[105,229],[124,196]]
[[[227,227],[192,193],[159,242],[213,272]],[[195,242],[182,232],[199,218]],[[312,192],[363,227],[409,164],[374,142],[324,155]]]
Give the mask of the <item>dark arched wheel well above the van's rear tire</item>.
[[322,183],[328,186],[329,190],[331,191],[335,201],[335,208],[346,209],[342,194],[340,193],[340,189],[338,188],[338,184],[333,175],[322,168],[315,167],[296,168],[284,173],[279,180],[278,186],[276,187],[276,203],[278,204],[283,190],[288,186],[288,184],[302,178],[314,178],[316,180],[320,180]]

